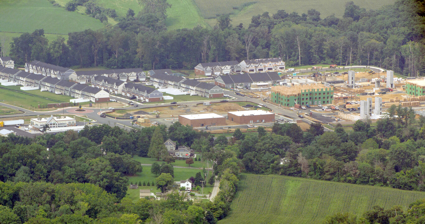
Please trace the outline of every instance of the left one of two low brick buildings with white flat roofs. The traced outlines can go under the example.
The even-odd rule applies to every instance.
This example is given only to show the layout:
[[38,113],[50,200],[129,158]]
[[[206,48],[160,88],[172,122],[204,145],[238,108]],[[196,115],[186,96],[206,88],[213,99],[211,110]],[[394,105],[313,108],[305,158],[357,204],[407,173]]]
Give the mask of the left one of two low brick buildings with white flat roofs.
[[226,125],[226,118],[215,113],[179,115],[178,122],[192,128]]

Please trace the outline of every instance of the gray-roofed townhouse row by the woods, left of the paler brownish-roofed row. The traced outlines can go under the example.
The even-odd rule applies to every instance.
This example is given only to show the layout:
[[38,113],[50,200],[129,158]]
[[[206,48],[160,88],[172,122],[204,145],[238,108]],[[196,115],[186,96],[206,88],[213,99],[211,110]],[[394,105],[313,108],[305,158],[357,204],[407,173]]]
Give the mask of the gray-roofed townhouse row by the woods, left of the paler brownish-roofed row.
[[241,71],[242,67],[238,61],[199,63],[195,67],[195,74],[204,76],[232,74]]

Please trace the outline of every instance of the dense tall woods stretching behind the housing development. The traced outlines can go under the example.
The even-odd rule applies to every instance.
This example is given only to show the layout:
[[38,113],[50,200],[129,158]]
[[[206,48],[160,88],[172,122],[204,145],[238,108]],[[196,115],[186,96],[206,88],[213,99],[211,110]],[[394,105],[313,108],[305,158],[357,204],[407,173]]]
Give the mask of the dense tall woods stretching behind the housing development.
[[[281,57],[287,67],[376,65],[408,76],[424,71],[425,14],[419,0],[399,0],[378,10],[348,2],[343,18],[321,18],[315,9],[301,15],[265,12],[245,26],[232,26],[223,15],[212,28],[178,30],[165,27],[166,2],[143,2],[147,6],[137,15],[129,9],[115,26],[71,32],[68,41],[49,42],[42,30],[22,34],[13,39],[10,55],[18,65],[35,59],[63,67],[192,70],[200,62]],[[93,0],[82,4],[90,15],[106,11]]]

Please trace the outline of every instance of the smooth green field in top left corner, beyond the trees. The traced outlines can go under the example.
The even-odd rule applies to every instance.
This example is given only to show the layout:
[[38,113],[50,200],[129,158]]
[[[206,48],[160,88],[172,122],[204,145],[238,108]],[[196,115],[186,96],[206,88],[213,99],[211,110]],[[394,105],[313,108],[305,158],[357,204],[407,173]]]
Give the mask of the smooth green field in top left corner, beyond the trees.
[[103,27],[99,20],[54,7],[47,0],[1,0],[0,15],[0,31],[8,32],[32,32],[42,28],[46,33],[68,34]]

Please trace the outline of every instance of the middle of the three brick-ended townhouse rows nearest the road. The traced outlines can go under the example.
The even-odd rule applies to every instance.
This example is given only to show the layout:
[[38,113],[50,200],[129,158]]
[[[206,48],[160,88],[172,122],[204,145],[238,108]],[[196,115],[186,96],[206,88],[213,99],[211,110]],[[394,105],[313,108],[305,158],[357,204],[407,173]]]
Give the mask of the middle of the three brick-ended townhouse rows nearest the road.
[[163,101],[164,97],[160,91],[137,83],[125,82],[122,87],[122,95],[144,100],[146,102]]

